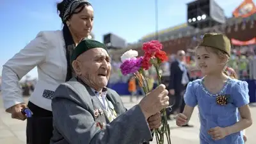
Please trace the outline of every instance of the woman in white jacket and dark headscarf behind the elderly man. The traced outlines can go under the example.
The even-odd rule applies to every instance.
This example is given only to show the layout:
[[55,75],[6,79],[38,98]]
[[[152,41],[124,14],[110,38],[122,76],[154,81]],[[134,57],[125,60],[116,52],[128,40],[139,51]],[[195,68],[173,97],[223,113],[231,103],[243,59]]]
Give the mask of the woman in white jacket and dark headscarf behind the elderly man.
[[[27,122],[29,144],[50,143],[52,136],[51,99],[54,90],[74,73],[70,54],[79,41],[90,35],[93,27],[93,8],[85,0],[64,0],[57,5],[63,22],[62,31],[41,31],[25,48],[3,66],[2,87],[6,112],[13,119],[25,120],[22,108],[29,108],[33,117]],[[31,69],[38,68],[38,82],[29,97],[22,99],[19,80]],[[28,128],[29,127],[29,128]]]

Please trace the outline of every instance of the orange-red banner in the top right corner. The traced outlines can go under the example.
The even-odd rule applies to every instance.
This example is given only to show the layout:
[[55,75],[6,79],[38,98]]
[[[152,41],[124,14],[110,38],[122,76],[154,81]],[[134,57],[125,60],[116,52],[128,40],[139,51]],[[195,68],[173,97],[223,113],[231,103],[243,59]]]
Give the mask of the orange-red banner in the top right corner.
[[255,12],[256,6],[253,1],[244,0],[243,3],[241,3],[240,6],[238,6],[236,10],[233,11],[233,15],[234,17],[249,17]]

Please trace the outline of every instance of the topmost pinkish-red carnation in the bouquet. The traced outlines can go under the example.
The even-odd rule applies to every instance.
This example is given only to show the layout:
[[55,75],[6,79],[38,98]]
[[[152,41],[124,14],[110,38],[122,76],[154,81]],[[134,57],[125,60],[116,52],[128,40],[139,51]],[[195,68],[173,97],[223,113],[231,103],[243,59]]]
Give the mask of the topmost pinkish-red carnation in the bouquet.
[[157,51],[161,50],[162,48],[163,48],[163,45],[157,40],[143,43],[143,47],[142,47],[144,52],[148,54],[155,54]]

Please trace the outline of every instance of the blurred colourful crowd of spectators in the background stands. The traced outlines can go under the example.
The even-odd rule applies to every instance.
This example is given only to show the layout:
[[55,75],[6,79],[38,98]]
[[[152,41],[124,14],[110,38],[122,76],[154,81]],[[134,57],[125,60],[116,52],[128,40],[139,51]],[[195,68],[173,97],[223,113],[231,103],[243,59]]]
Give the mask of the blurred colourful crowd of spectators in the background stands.
[[[162,76],[170,76],[170,66],[172,61],[175,61],[177,54],[169,55],[169,61],[164,62],[161,66]],[[189,71],[189,76],[191,80],[196,80],[197,78],[202,78],[202,72],[196,67],[196,56],[195,52],[188,51],[184,57],[184,62]],[[120,61],[112,61],[113,71],[111,71],[111,78],[109,80],[110,84],[115,83],[128,83],[129,76],[124,76],[120,72]],[[256,45],[248,46],[232,46],[230,59],[227,64],[228,67],[233,68],[240,80],[255,80],[256,79]],[[154,78],[156,82],[156,71],[154,68],[148,69],[148,78]]]

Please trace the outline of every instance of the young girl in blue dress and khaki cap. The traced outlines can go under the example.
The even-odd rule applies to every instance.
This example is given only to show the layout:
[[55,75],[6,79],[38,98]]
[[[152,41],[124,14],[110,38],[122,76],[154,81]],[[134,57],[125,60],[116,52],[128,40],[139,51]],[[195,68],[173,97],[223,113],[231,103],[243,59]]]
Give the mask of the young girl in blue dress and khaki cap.
[[[196,48],[196,64],[204,78],[188,83],[177,126],[188,123],[198,105],[200,144],[243,144],[243,130],[252,125],[248,83],[225,75],[230,41],[223,34],[205,34]],[[239,117],[240,115],[240,117]]]

